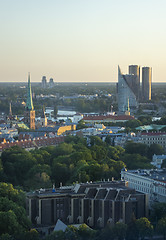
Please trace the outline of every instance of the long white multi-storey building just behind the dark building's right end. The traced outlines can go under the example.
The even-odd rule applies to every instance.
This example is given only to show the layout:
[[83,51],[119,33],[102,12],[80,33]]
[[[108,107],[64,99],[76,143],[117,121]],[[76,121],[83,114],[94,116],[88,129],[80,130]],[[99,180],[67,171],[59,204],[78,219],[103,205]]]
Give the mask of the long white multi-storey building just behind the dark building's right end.
[[121,179],[126,185],[146,193],[149,202],[166,202],[166,169],[139,169],[121,171]]

